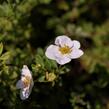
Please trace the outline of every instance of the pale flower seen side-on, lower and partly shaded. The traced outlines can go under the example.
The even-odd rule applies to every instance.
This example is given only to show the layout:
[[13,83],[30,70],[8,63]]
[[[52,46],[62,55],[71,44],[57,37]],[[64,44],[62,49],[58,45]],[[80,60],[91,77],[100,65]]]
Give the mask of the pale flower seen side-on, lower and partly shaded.
[[32,87],[34,85],[31,71],[27,65],[23,65],[21,70],[21,79],[17,82],[16,87],[20,90],[20,98],[25,100],[29,97]]

